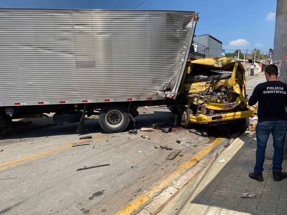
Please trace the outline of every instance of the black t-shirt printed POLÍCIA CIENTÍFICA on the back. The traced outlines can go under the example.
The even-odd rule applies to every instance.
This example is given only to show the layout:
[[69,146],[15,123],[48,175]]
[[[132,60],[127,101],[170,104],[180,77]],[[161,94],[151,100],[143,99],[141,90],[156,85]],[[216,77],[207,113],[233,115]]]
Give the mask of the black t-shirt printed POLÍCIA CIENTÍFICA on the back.
[[287,120],[287,84],[267,81],[258,84],[251,94],[248,105],[258,102],[258,121]]

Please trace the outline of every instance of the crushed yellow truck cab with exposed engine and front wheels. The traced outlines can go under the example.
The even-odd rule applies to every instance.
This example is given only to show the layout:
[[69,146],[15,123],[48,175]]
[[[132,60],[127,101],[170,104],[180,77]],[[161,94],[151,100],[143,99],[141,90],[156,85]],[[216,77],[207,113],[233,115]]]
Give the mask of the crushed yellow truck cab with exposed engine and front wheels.
[[237,60],[213,57],[188,61],[180,94],[186,101],[181,108],[181,125],[192,123],[227,124],[232,132],[244,132],[254,111],[248,108],[245,69]]

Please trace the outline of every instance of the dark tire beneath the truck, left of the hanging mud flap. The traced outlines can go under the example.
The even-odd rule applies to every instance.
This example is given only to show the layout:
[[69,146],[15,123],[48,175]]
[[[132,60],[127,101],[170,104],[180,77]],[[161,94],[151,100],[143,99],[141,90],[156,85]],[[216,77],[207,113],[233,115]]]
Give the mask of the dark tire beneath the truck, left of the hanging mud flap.
[[62,111],[53,115],[55,124],[69,124],[79,122],[82,118],[82,111]]

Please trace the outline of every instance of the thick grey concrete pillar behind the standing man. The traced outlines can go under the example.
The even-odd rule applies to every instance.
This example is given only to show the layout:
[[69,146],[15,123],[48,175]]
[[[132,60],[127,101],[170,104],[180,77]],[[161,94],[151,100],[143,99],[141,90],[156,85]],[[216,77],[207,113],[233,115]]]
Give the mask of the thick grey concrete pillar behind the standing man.
[[[276,22],[274,35],[273,64],[278,66],[278,80],[287,83],[287,1],[277,0]],[[268,30],[268,29],[267,29]],[[272,159],[274,154],[272,135],[270,135],[265,151],[265,158]],[[284,159],[287,158],[287,143],[285,140]]]

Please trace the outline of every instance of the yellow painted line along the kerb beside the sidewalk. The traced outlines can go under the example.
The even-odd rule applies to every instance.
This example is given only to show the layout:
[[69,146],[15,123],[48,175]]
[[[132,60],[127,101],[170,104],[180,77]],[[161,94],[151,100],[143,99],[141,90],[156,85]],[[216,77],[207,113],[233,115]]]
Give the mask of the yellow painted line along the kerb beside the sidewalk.
[[139,207],[141,207],[144,203],[146,203],[148,200],[153,198],[157,193],[162,191],[166,186],[168,186],[174,179],[176,179],[179,175],[181,175],[185,170],[189,169],[197,163],[200,159],[203,158],[213,147],[215,147],[218,143],[220,143],[225,138],[217,138],[215,141],[212,142],[212,146],[207,146],[201,151],[199,151],[194,157],[192,157],[190,160],[186,161],[184,164],[182,164],[176,171],[171,173],[167,178],[163,179],[155,185],[150,190],[146,191],[142,195],[140,195],[138,198],[136,198],[134,201],[132,201],[130,204],[128,204],[126,207],[121,209],[118,213],[115,215],[130,215],[133,212],[136,211]]

